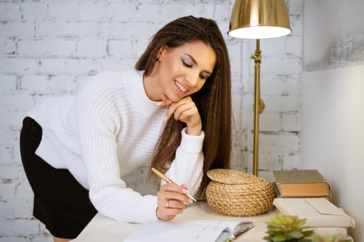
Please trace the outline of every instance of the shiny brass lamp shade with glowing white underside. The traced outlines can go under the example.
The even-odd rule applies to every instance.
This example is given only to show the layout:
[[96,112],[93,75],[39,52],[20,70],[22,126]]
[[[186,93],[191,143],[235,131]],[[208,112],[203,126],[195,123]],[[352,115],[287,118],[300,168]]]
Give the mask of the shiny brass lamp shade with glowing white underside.
[[284,0],[236,0],[232,9],[230,36],[268,39],[292,32]]

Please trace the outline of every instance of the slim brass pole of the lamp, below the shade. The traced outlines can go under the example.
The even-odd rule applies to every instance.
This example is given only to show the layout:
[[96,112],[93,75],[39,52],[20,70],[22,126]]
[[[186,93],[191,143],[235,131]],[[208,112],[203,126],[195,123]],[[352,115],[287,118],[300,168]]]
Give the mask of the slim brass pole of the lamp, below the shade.
[[253,141],[253,175],[258,176],[259,169],[259,115],[263,112],[265,104],[261,100],[260,74],[261,74],[261,50],[260,39],[257,39],[254,59],[254,141]]

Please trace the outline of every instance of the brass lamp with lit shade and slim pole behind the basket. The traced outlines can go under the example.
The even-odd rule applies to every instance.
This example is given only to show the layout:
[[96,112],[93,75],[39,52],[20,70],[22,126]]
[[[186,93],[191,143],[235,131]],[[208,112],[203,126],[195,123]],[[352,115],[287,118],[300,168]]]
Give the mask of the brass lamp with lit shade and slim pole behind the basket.
[[236,0],[232,9],[228,35],[241,39],[257,39],[254,59],[254,143],[253,174],[259,171],[259,114],[265,104],[260,98],[260,39],[289,35],[292,32],[284,0]]

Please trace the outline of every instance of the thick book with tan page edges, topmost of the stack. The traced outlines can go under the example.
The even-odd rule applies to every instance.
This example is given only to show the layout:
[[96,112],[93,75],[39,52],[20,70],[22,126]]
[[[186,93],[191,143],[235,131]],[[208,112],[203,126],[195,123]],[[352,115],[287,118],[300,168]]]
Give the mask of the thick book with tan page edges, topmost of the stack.
[[321,197],[330,200],[331,188],[317,169],[273,171],[277,198]]

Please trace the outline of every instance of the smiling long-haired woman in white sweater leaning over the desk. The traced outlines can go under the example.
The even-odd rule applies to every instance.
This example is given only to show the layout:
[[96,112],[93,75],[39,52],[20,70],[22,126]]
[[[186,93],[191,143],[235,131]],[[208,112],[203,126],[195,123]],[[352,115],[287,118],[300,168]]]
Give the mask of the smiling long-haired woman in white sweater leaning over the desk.
[[[171,21],[135,67],[95,75],[75,97],[47,100],[24,119],[33,214],[54,241],[75,238],[96,212],[171,220],[192,202],[187,193],[204,196],[209,169],[229,167],[229,57],[216,23]],[[161,183],[157,196],[141,196],[122,177],[143,165],[181,185]]]

